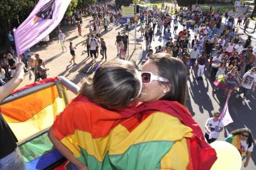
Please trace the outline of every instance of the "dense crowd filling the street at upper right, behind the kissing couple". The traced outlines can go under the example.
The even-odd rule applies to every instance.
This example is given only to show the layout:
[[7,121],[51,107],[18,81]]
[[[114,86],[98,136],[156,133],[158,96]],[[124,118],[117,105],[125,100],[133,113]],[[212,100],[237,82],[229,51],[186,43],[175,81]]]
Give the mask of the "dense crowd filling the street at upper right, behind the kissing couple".
[[[233,16],[228,15],[228,11],[224,14],[218,11],[210,9],[207,13],[202,13],[198,11],[198,7],[190,10],[180,8],[179,11],[175,9],[172,15],[157,8],[141,10],[140,30],[148,50],[144,60],[148,60],[153,53],[168,53],[187,65],[188,75],[196,71],[197,80],[202,80],[207,65],[212,82],[221,74],[225,77],[223,98],[230,96],[238,87],[241,87],[238,93],[241,94],[246,87],[242,101],[245,105],[245,98],[250,90],[255,91],[256,46],[252,46],[250,36],[245,41],[241,40],[241,35],[235,31],[235,20]],[[245,18],[244,24],[247,21]],[[177,34],[178,26],[183,28]],[[191,35],[194,35],[193,38]],[[154,49],[151,43],[156,36],[159,36],[158,42],[163,39],[168,42]],[[249,72],[251,74],[248,74]],[[217,91],[216,86],[213,92]]]

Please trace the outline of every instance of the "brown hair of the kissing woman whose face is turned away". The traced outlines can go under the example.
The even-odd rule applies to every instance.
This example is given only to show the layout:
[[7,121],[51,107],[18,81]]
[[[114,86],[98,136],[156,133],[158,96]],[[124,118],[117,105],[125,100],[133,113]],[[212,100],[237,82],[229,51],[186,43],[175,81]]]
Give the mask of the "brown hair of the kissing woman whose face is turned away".
[[102,106],[127,107],[139,96],[142,83],[132,62],[112,60],[87,77],[80,94]]

